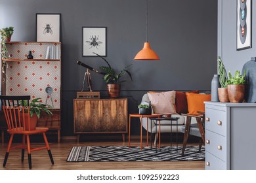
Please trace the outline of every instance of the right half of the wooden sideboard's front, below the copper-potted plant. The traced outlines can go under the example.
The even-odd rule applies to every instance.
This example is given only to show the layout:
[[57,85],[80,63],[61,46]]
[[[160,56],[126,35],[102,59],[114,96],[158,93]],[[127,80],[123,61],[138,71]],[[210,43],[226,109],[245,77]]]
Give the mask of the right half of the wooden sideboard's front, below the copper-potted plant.
[[101,131],[127,132],[127,99],[102,100]]

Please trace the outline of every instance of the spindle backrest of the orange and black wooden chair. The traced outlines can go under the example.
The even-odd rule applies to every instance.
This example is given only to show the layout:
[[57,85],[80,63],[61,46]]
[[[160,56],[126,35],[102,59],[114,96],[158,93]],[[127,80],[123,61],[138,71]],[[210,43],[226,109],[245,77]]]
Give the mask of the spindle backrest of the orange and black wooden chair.
[[[30,131],[30,95],[0,96],[2,110],[10,131]],[[24,107],[25,106],[25,107]]]

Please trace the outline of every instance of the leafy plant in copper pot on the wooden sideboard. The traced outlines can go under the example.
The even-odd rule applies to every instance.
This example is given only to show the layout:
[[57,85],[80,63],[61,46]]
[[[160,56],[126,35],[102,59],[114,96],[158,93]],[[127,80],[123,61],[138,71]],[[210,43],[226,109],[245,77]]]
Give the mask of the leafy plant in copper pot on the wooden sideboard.
[[[93,54],[96,54],[93,52]],[[102,56],[96,54],[96,56],[102,58]],[[120,95],[120,90],[121,90],[121,82],[125,82],[126,80],[120,80],[120,78],[126,74],[129,75],[131,78],[131,81],[133,81],[133,78],[131,76],[131,73],[127,71],[127,68],[130,67],[132,64],[127,65],[125,68],[123,68],[118,74],[116,74],[116,71],[112,69],[108,61],[106,59],[102,58],[108,66],[100,66],[100,69],[104,71],[104,81],[107,84],[107,89],[108,89],[108,96],[111,98],[117,98]]]

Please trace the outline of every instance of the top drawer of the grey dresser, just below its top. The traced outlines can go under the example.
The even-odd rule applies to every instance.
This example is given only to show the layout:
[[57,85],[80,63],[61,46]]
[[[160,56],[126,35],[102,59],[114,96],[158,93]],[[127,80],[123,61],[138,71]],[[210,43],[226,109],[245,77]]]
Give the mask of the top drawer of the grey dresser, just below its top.
[[226,112],[205,107],[205,129],[226,136]]

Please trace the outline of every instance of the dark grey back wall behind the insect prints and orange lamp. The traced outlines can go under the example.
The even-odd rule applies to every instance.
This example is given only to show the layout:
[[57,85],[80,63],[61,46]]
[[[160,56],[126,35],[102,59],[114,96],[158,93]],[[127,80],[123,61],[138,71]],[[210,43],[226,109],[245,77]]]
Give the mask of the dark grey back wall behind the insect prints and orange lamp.
[[[104,64],[81,56],[82,26],[108,28],[106,59],[113,67],[133,63],[133,82],[121,86],[129,112],[137,112],[148,90],[210,90],[217,73],[217,0],[148,1],[148,41],[160,61],[133,61],[146,41],[144,0],[0,0],[0,27],[14,26],[12,41],[35,41],[36,13],[61,14],[62,135],[73,135],[73,99],[85,72],[77,59],[96,69]],[[91,74],[93,90],[106,96],[102,76]]]

